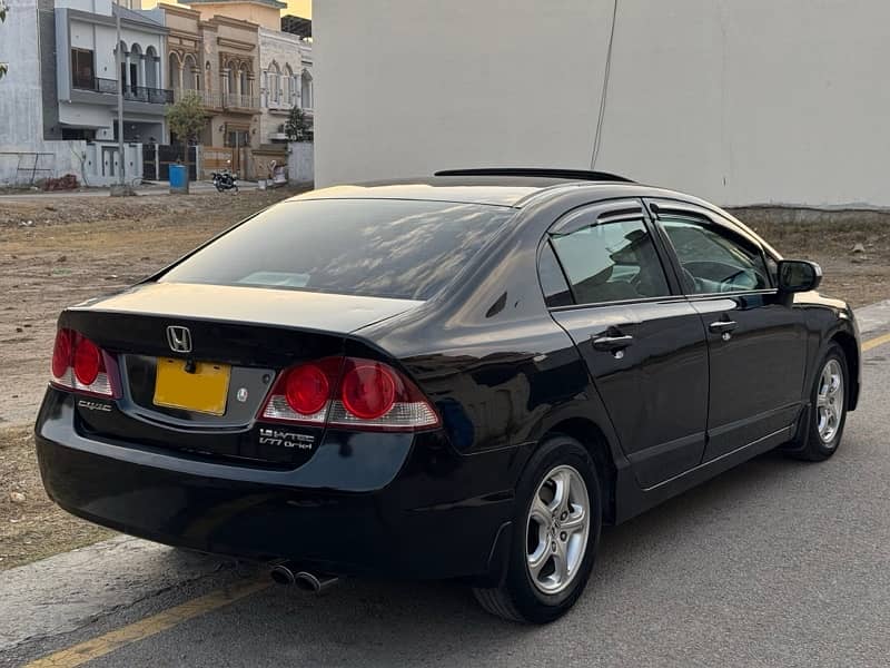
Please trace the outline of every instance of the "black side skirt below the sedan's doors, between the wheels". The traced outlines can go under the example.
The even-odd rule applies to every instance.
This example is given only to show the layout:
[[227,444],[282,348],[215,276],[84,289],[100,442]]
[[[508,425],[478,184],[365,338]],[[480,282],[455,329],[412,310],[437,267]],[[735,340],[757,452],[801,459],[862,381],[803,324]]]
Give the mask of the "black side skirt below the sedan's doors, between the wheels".
[[728,452],[716,459],[670,478],[654,487],[641,489],[630,468],[619,470],[615,481],[615,523],[630,520],[650,508],[690,490],[702,482],[729,471],[759,454],[787,443],[793,435],[798,421],[769,435]]

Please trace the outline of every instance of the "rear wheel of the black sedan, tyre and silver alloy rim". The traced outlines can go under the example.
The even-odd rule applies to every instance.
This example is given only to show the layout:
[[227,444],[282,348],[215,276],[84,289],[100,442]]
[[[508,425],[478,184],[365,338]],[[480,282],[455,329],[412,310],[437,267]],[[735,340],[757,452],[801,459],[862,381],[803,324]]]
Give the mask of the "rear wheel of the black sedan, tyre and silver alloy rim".
[[507,572],[496,588],[473,590],[492,615],[547,623],[574,606],[590,578],[602,529],[600,481],[586,449],[548,438],[516,489]]

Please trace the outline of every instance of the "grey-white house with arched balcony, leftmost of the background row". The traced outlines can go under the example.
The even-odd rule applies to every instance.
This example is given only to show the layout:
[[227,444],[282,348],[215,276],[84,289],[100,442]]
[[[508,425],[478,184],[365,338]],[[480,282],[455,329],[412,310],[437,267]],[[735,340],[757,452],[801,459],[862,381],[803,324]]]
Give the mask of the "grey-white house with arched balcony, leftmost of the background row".
[[[134,0],[135,1],[135,0]],[[166,37],[162,14],[110,0],[9,0],[0,24],[0,184],[75,174],[108,185],[142,174],[141,143],[165,141]],[[115,12],[121,41],[116,45]],[[120,49],[118,69],[116,49]],[[123,153],[117,141],[123,81]]]

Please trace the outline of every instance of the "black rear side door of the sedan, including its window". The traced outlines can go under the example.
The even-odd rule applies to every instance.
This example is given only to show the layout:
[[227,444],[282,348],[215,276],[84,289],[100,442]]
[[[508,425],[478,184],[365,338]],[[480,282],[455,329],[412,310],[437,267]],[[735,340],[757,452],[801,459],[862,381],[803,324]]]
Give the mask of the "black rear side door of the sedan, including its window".
[[594,204],[551,227],[538,265],[643,488],[700,463],[708,418],[704,327],[659,243],[642,200]]

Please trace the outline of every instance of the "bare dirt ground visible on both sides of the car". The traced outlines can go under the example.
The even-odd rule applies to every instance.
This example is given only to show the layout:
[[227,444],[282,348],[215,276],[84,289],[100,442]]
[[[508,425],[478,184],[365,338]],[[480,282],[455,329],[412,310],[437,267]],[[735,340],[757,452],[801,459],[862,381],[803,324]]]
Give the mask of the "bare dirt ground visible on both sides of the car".
[[[0,570],[109,536],[46,498],[24,426],[46,387],[59,311],[135,283],[291,194],[0,198]],[[787,257],[822,264],[825,294],[854,306],[890,297],[890,214],[734,213]]]

